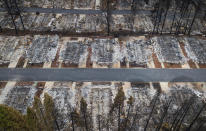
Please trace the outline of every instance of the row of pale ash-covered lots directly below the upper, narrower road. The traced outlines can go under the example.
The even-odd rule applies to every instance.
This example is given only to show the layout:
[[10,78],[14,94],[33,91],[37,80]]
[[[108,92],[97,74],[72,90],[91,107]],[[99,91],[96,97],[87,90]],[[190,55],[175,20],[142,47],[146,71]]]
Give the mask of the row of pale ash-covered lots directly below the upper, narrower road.
[[[10,16],[7,13],[1,13],[0,26],[2,29],[15,29]],[[154,19],[152,13],[139,14],[112,14],[110,18],[111,32],[134,32],[134,33],[151,33],[154,31]],[[173,14],[168,14],[163,28],[159,33],[169,33],[170,30],[175,32],[176,28],[172,26]],[[107,14],[52,14],[52,13],[22,13],[24,27],[28,31],[58,31],[68,33],[107,33]],[[186,20],[184,20],[186,22]],[[23,30],[19,17],[15,19],[17,29]],[[163,23],[163,22],[162,22]],[[196,19],[191,34],[204,34],[206,31],[205,22]],[[180,27],[180,34],[184,34],[186,28]],[[155,30],[156,31],[156,30]]]

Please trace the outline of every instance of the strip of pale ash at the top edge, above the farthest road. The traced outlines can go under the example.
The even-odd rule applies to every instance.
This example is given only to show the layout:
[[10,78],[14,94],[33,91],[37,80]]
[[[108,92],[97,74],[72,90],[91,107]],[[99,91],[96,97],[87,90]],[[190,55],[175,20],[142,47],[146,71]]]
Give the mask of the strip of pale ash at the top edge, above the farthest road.
[[[36,8],[63,8],[63,9],[105,9],[106,0],[18,0],[20,7],[36,7]],[[115,0],[112,1],[111,8],[115,10],[131,10],[132,0]],[[135,1],[137,9],[153,9],[156,0]],[[5,7],[3,1],[0,1],[0,7]]]

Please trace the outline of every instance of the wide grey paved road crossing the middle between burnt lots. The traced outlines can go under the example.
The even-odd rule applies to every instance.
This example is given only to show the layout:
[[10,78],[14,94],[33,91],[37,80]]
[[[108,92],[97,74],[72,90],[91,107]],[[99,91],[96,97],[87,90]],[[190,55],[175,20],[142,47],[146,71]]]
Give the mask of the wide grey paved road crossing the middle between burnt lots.
[[206,82],[206,69],[0,69],[1,81]]

